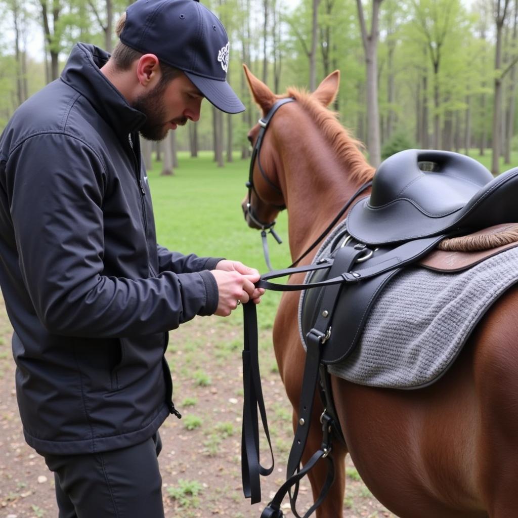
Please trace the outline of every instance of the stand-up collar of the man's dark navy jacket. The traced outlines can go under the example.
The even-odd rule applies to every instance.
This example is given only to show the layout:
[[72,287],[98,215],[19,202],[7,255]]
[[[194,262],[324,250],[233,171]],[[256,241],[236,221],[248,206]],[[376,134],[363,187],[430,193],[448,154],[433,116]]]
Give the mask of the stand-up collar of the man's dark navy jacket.
[[109,57],[108,52],[94,45],[78,43],[70,53],[61,80],[86,97],[117,133],[127,135],[137,131],[146,122],[146,116],[132,108],[100,71]]

